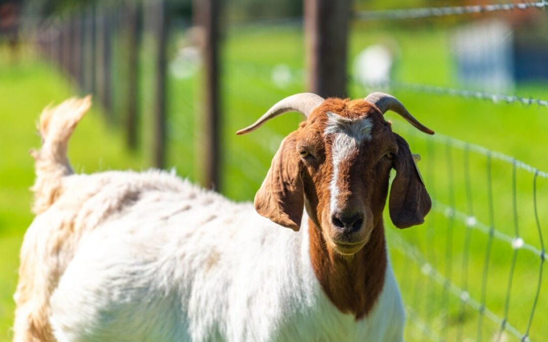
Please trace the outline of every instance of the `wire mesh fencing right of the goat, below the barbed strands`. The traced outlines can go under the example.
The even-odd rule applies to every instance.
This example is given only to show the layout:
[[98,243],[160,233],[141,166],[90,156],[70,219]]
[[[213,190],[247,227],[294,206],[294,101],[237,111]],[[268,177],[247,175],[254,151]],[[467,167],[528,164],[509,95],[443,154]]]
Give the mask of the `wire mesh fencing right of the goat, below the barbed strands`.
[[[413,131],[409,131],[408,134],[413,135]],[[475,339],[478,341],[487,340],[487,339],[493,339],[496,341],[500,340],[507,340],[507,337],[505,337],[505,332],[511,334],[513,337],[515,337],[517,340],[520,341],[529,341],[532,340],[529,338],[530,329],[532,327],[533,318],[535,315],[535,311],[537,309],[538,299],[541,292],[541,285],[543,281],[543,268],[545,265],[545,258],[546,258],[546,250],[544,246],[543,241],[543,234],[541,230],[540,220],[539,220],[539,204],[538,204],[538,181],[539,179],[547,179],[548,174],[546,172],[540,171],[535,169],[534,167],[527,165],[525,163],[522,163],[521,161],[515,160],[510,156],[507,156],[505,154],[492,152],[486,148],[483,148],[481,146],[477,146],[471,143],[463,142],[456,140],[454,138],[443,136],[443,135],[435,135],[432,137],[425,137],[424,135],[416,135],[417,138],[421,140],[425,140],[429,146],[432,146],[432,144],[437,144],[440,146],[440,149],[446,154],[446,158],[444,159],[443,163],[445,163],[446,167],[445,170],[448,172],[447,175],[447,184],[448,184],[448,192],[447,196],[449,198],[449,201],[452,202],[450,204],[444,204],[441,200],[437,198],[436,194],[436,187],[432,184],[432,178],[434,177],[434,174],[438,176],[439,172],[436,172],[436,166],[429,165],[427,175],[430,177],[425,177],[427,182],[427,188],[429,188],[433,203],[432,203],[432,211],[439,213],[439,215],[443,216],[444,220],[439,221],[437,220],[435,223],[436,229],[443,229],[443,235],[446,239],[446,248],[445,248],[445,267],[443,271],[439,270],[439,266],[436,265],[436,258],[434,256],[435,253],[432,252],[432,246],[429,246],[426,248],[426,254],[422,253],[418,246],[414,244],[413,242],[416,241],[408,241],[406,239],[403,239],[400,234],[398,233],[391,233],[389,236],[390,246],[394,248],[395,250],[399,251],[403,254],[403,256],[409,260],[411,260],[416,268],[420,271],[424,277],[427,278],[430,282],[432,282],[434,285],[437,285],[441,291],[442,295],[441,297],[441,312],[437,312],[436,315],[441,315],[444,317],[441,320],[441,323],[436,324],[435,318],[428,317],[428,315],[425,315],[426,317],[421,317],[419,313],[419,309],[416,307],[413,307],[414,301],[411,300],[410,303],[407,303],[409,306],[408,312],[410,319],[409,321],[412,322],[416,329],[418,329],[420,332],[423,333],[423,337],[427,338],[429,340],[434,341],[444,341],[448,339],[448,331],[450,330],[450,326],[452,326],[453,334],[451,335],[452,340],[463,340],[463,338],[470,338],[470,334],[466,334],[464,331],[464,328],[466,327],[467,330],[470,330],[470,324],[449,324],[447,322],[448,317],[448,311],[449,307],[451,306],[450,299],[448,298],[449,295],[452,295],[458,303],[453,302],[453,309],[455,309],[455,312],[457,312],[455,315],[457,317],[463,317],[465,314],[466,309],[474,310],[477,313],[477,327],[476,327],[476,334]],[[454,158],[452,156],[453,150],[458,149],[461,150],[463,160],[462,163],[458,163],[463,165],[463,169],[461,172],[463,172],[464,175],[464,192],[465,192],[465,200],[464,205],[466,206],[465,212],[459,210],[455,206],[454,201],[454,193],[453,189],[455,188],[454,179],[452,176],[452,173],[456,172],[456,169],[454,167]],[[475,216],[475,210],[476,206],[478,204],[473,204],[473,186],[471,185],[471,167],[470,167],[470,154],[476,154],[478,156],[481,156],[485,159],[485,185],[487,187],[487,193],[488,193],[488,201],[487,201],[487,217],[488,217],[488,223],[483,223],[478,219],[477,216]],[[439,156],[435,155],[435,153],[432,153],[432,148],[429,149],[429,153],[425,154],[426,156],[423,157],[423,159],[440,159]],[[493,200],[493,172],[492,172],[492,164],[493,160],[498,160],[502,162],[502,167],[506,165],[507,167],[510,167],[511,169],[511,188],[510,190],[510,197],[511,197],[511,217],[512,217],[512,223],[513,226],[513,235],[507,234],[504,231],[497,228],[496,221],[495,221],[495,205]],[[518,200],[516,195],[516,188],[517,188],[517,171],[518,170],[524,170],[527,172],[530,178],[532,178],[532,197],[533,197],[533,208],[534,208],[534,216],[535,216],[535,225],[536,225],[536,231],[538,235],[536,236],[535,243],[540,246],[540,248],[535,247],[533,244],[529,244],[526,242],[526,239],[523,238],[522,235],[520,235],[520,224],[518,224]],[[439,176],[438,176],[439,177]],[[430,183],[429,183],[430,179]],[[461,272],[460,272],[460,281],[455,279],[454,272],[452,270],[453,264],[456,263],[456,258],[454,256],[455,250],[453,250],[452,247],[455,246],[454,242],[452,241],[454,237],[454,222],[458,221],[461,223],[461,227],[464,227],[464,237],[461,239],[464,241],[463,244],[459,245],[458,250],[459,253],[462,254],[461,259]],[[509,222],[507,222],[509,223]],[[527,227],[529,228],[529,227]],[[432,227],[430,227],[432,229]],[[522,227],[523,229],[523,227]],[[471,235],[472,231],[477,231],[486,237],[486,247],[485,247],[485,253],[484,253],[484,262],[483,262],[483,268],[482,268],[482,274],[481,274],[481,289],[480,291],[476,291],[477,297],[474,297],[470,292],[470,267],[469,267],[469,260],[471,257]],[[431,233],[431,232],[430,232]],[[461,235],[463,235],[463,232],[460,232]],[[529,234],[529,236],[531,236]],[[429,237],[430,238],[430,237]],[[506,286],[505,286],[505,296],[504,296],[504,304],[502,310],[496,310],[489,308],[487,305],[487,297],[488,297],[488,279],[490,275],[490,269],[489,266],[492,265],[492,257],[493,257],[493,242],[499,241],[503,245],[506,245],[510,248],[511,251],[511,262],[510,262],[510,269],[509,273],[507,275],[506,280]],[[460,240],[459,240],[460,241]],[[426,242],[426,245],[429,245],[429,242]],[[527,312],[527,321],[525,324],[522,324],[521,326],[518,326],[514,322],[512,322],[509,319],[509,312],[510,312],[510,303],[512,298],[512,287],[513,287],[513,281],[516,278],[516,264],[517,264],[517,256],[518,252],[528,252],[533,257],[533,260],[536,259],[539,263],[539,269],[538,269],[538,276],[536,278],[536,286],[535,291],[531,293],[533,299],[533,303],[531,304],[528,312]],[[477,275],[476,275],[477,276]],[[409,278],[406,275],[407,281],[409,281]],[[499,286],[502,285],[502,281],[500,281]],[[458,283],[459,282],[459,283]],[[415,288],[421,288],[418,281],[415,283]],[[431,294],[435,291],[426,291],[427,293]],[[515,294],[515,293],[514,293]],[[432,299],[433,302],[433,299]],[[493,329],[489,330],[486,329],[484,319],[487,319],[492,324],[494,324],[496,328],[496,333],[491,337],[486,337],[486,332],[493,332]],[[436,328],[437,327],[437,328]]]

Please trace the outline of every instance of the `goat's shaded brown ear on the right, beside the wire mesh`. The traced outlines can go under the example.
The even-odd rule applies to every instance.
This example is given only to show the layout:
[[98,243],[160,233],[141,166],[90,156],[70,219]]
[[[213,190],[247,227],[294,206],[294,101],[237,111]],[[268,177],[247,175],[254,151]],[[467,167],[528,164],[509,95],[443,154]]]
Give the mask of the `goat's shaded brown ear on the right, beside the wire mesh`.
[[424,222],[432,201],[416,169],[409,145],[401,136],[394,135],[398,143],[398,155],[393,158],[396,178],[390,189],[390,218],[396,227],[408,228]]

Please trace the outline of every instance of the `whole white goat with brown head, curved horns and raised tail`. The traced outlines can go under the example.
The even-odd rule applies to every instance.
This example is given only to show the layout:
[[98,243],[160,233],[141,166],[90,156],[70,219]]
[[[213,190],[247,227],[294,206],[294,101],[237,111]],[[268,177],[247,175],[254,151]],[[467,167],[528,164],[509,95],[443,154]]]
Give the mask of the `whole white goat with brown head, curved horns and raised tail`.
[[433,132],[396,98],[296,94],[238,131],[307,117],[256,193],[260,215],[163,171],[73,173],[67,142],[89,106],[73,99],[41,115],[16,341],[403,339],[382,217],[390,170],[397,227],[423,223],[431,201],[383,114]]

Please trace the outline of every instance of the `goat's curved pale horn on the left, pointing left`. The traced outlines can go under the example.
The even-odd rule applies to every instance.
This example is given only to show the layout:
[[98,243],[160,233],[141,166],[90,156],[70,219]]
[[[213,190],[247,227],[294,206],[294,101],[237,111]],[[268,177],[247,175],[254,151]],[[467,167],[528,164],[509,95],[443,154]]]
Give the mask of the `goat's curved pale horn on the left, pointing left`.
[[323,97],[312,94],[311,92],[301,92],[300,94],[288,96],[272,106],[259,120],[255,121],[253,125],[237,131],[236,134],[240,135],[254,131],[266,121],[286,112],[299,112],[304,114],[305,117],[308,117],[322,102]]

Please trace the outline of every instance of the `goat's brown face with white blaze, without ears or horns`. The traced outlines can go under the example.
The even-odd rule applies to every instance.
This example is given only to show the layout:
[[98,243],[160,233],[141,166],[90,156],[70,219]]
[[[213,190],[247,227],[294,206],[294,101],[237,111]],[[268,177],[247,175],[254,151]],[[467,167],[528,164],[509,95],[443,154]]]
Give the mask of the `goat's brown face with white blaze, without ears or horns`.
[[357,252],[385,206],[398,153],[390,124],[368,102],[328,99],[295,138],[307,212],[335,251]]

